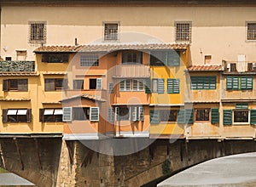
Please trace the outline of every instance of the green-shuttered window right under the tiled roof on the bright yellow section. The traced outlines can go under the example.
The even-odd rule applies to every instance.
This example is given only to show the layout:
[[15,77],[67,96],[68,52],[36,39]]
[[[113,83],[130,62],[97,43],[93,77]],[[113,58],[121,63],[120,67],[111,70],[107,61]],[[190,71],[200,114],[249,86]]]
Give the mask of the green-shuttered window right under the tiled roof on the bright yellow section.
[[168,51],[150,51],[150,65],[152,66],[179,66],[180,52],[175,50]]

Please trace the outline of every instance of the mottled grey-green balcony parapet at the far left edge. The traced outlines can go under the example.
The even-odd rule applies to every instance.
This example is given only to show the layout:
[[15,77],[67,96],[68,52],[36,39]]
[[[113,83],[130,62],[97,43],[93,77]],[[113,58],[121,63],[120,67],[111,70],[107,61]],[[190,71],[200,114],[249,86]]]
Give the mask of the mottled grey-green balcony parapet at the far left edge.
[[0,61],[0,72],[35,71],[35,61]]

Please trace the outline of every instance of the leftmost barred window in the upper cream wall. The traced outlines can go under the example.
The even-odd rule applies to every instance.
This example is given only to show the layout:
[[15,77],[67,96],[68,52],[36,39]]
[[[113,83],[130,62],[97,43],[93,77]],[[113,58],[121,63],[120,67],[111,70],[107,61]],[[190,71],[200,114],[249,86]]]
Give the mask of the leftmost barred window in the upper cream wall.
[[46,22],[31,21],[29,25],[29,42],[46,43]]

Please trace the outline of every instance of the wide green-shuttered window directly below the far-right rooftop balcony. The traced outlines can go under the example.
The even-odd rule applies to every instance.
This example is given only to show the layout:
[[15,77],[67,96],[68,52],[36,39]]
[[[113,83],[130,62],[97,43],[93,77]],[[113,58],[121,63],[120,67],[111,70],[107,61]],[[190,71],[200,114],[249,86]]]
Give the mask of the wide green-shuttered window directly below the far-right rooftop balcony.
[[226,77],[228,90],[253,89],[253,77]]

